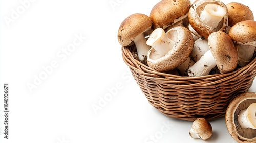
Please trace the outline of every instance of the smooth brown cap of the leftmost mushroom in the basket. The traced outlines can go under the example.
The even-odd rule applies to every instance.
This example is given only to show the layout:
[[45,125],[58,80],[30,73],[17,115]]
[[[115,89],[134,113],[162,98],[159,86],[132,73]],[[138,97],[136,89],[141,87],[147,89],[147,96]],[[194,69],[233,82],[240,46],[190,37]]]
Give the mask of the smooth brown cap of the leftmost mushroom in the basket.
[[152,21],[145,14],[135,13],[123,20],[118,30],[118,42],[122,46],[129,46],[140,34],[151,29]]

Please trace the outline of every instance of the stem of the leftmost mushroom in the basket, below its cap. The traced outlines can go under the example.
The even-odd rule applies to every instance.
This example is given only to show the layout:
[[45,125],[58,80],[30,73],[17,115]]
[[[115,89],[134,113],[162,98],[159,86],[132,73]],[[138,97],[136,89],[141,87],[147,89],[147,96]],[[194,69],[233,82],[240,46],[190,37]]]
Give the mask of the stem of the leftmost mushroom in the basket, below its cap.
[[147,56],[147,52],[151,48],[150,46],[148,46],[146,44],[146,39],[145,39],[144,34],[142,33],[142,34],[138,35],[133,41],[137,48],[139,60],[144,60],[145,57]]

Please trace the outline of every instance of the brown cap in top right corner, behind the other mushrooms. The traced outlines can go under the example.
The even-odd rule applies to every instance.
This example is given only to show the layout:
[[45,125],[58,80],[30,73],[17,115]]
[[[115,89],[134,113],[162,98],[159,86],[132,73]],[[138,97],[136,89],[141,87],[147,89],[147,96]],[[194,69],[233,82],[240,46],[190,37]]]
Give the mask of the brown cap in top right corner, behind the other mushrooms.
[[253,13],[248,6],[238,2],[231,2],[226,6],[228,9],[228,26],[232,27],[245,20],[254,20]]

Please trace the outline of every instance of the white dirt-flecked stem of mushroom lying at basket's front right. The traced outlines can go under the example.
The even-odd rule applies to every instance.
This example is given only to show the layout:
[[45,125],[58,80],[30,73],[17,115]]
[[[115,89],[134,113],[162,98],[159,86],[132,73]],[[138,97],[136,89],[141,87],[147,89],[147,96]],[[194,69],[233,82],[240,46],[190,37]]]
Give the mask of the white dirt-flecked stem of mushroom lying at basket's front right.
[[198,77],[208,75],[210,70],[217,65],[211,51],[208,50],[204,55],[187,70],[189,77]]

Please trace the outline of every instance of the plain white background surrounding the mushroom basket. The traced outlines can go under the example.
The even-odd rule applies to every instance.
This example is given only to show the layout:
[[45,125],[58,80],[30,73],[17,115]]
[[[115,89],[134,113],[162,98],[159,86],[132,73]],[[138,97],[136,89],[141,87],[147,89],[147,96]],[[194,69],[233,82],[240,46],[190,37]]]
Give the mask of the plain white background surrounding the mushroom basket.
[[[149,15],[158,2],[1,0],[0,142],[205,142],[189,136],[192,122],[152,107],[122,60],[120,23],[133,13]],[[253,1],[233,2],[256,14]],[[9,139],[3,134],[4,83]],[[210,123],[214,134],[206,142],[235,142],[224,118]]]

